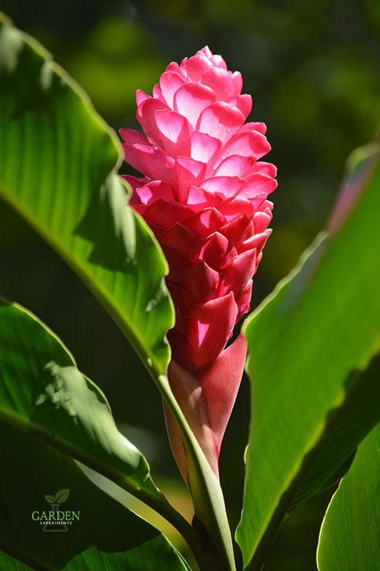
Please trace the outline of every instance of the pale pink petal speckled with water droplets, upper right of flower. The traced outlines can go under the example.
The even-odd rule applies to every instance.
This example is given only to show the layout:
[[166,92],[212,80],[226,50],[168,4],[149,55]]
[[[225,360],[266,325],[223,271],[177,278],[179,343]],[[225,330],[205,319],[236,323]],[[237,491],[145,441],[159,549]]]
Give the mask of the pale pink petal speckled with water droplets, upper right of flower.
[[243,123],[244,115],[239,109],[231,103],[216,101],[201,112],[196,123],[196,130],[219,138],[225,144]]

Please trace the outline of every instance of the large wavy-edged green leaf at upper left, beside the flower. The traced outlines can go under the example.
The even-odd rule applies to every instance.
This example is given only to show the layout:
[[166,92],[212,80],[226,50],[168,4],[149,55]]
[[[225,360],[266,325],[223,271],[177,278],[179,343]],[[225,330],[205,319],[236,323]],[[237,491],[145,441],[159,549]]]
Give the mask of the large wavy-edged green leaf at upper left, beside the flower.
[[167,264],[126,208],[121,154],[79,86],[0,18],[0,198],[88,285],[157,378],[174,324]]

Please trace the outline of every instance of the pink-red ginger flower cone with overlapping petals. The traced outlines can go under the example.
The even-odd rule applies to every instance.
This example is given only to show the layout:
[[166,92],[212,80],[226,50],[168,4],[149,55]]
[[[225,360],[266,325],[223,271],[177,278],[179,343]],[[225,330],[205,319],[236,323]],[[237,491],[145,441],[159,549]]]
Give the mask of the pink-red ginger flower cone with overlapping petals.
[[[218,476],[221,440],[244,370],[246,341],[228,348],[249,311],[252,277],[271,231],[276,168],[264,123],[244,123],[251,96],[239,71],[208,47],[171,63],[153,97],[137,91],[138,131],[121,129],[125,160],[144,178],[125,176],[131,206],[156,235],[169,262],[166,285],[176,325],[169,383]],[[166,408],[174,458],[189,485],[181,435]]]

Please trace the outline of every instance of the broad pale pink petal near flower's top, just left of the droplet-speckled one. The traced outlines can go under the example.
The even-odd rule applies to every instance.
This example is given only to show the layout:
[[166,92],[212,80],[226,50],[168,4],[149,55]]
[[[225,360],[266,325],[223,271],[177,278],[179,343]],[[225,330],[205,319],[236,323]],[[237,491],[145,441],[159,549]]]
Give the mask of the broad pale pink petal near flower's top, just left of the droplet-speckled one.
[[193,126],[196,125],[199,115],[204,108],[214,103],[216,96],[214,91],[207,86],[189,82],[179,87],[174,94],[174,110],[189,119]]

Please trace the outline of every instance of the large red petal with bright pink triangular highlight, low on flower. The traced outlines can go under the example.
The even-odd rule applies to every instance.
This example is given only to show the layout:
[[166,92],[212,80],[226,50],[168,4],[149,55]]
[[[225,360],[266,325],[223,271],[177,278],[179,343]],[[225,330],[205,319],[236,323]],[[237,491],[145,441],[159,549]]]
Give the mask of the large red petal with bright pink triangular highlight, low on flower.
[[197,369],[221,353],[232,335],[237,315],[234,295],[229,293],[189,308],[188,350]]

